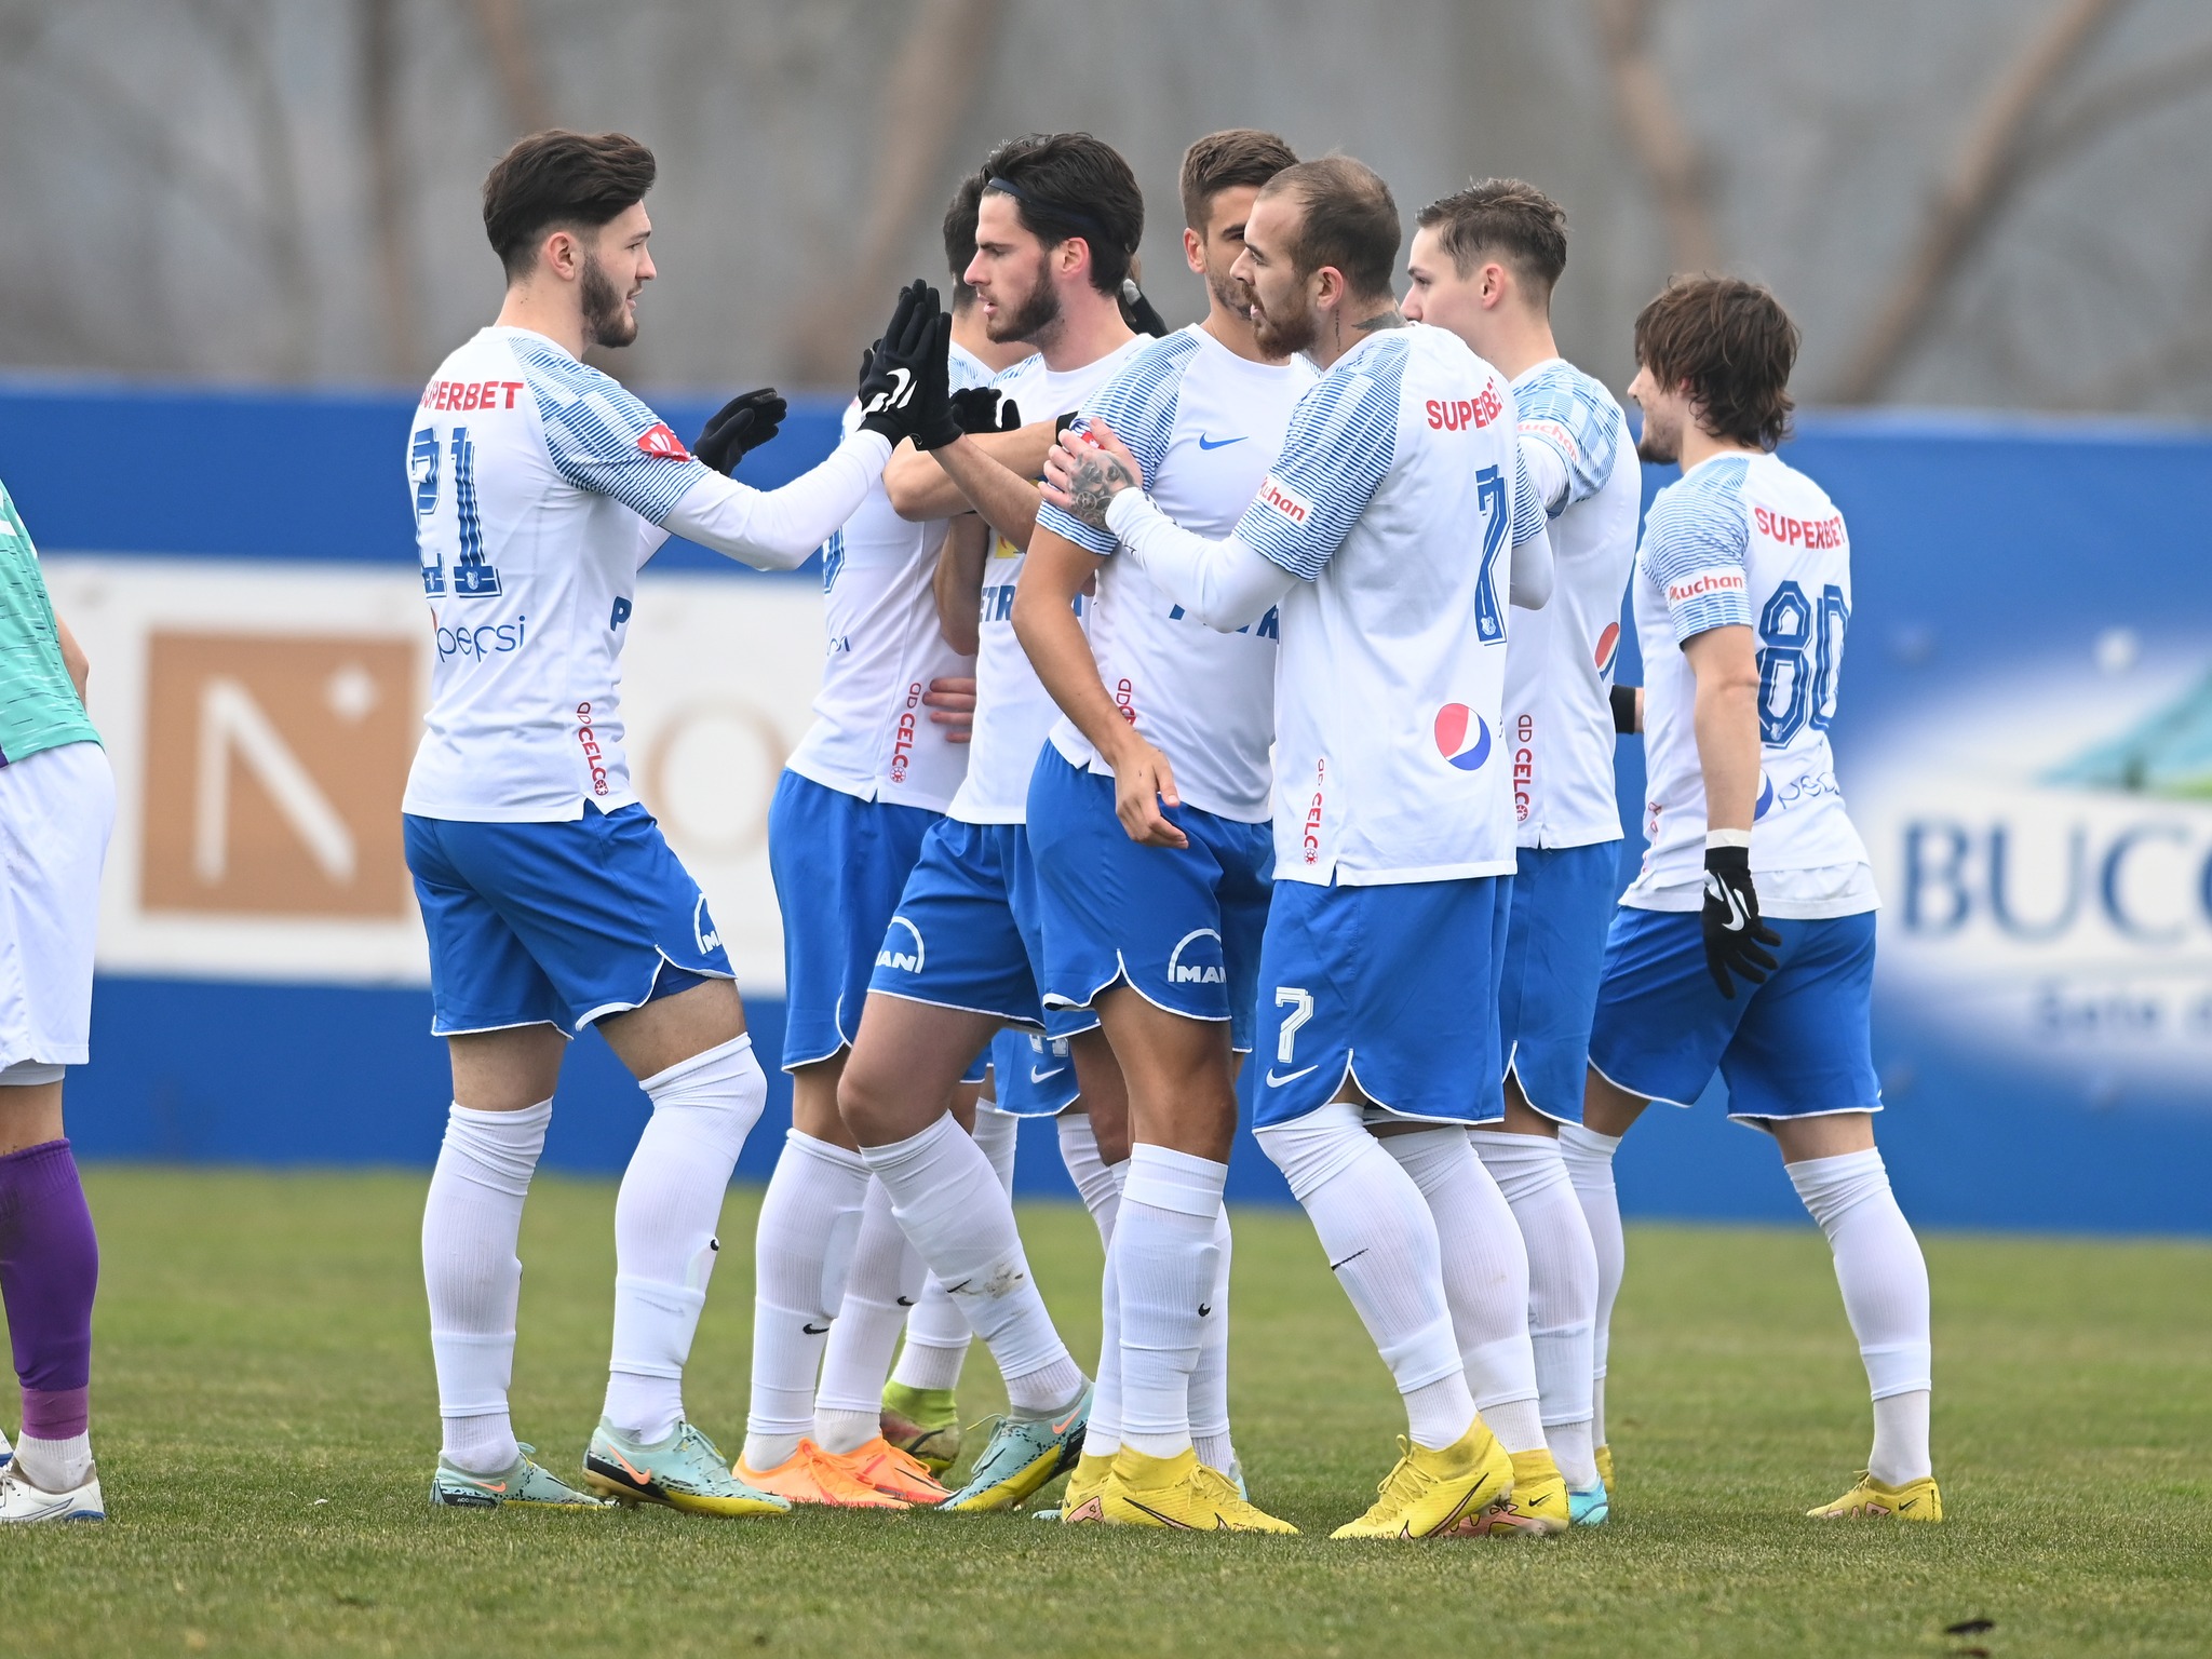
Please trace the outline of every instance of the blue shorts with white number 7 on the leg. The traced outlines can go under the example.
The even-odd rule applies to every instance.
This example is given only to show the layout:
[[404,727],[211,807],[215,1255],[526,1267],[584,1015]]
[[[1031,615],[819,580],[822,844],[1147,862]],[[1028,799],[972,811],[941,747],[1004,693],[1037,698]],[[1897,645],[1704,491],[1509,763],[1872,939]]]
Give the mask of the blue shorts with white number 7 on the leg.
[[1290,1124],[1349,1075],[1400,1117],[1504,1117],[1498,973],[1511,876],[1316,887],[1279,880],[1259,953],[1252,1126]]

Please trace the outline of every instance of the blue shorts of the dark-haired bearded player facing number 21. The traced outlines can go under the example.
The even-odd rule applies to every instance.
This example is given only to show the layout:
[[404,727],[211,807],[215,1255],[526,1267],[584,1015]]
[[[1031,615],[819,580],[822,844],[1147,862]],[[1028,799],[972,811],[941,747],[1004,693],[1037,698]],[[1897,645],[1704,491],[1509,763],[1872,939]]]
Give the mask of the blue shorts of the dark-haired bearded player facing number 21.
[[1018,823],[938,818],[922,836],[867,989],[989,1013],[1055,1037],[1095,1026],[1088,1009],[1055,1009],[1046,1018],[1037,998],[1042,967],[1029,832]]

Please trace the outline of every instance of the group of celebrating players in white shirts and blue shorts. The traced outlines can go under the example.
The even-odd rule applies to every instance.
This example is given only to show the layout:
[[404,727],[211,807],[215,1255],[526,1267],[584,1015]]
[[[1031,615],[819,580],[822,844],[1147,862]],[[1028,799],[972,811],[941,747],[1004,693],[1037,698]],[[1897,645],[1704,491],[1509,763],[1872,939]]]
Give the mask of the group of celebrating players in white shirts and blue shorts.
[[[686,447],[580,361],[637,334],[653,177],[622,135],[493,168],[507,301],[407,436],[438,661],[405,834],[453,1062],[422,1221],[431,1502],[1294,1533],[1228,1405],[1250,1073],[1250,1128],[1407,1413],[1334,1535],[1597,1526],[1613,1157],[1719,1073],[1829,1237],[1871,1385],[1869,1467],[1812,1513],[1940,1520],[1927,1270],[1871,1130],[1878,900],[1827,741],[1849,540],[1774,453],[1778,303],[1714,276],[1652,299],[1637,440],[1553,343],[1566,217],[1537,188],[1422,208],[1400,290],[1380,177],[1208,135],[1179,192],[1206,319],[1166,332],[1128,164],[1033,135],[945,212],[951,307],[905,288],[836,449],[757,491],[732,473],[774,392]],[[1683,469],[1641,542],[1639,456]],[[668,535],[759,568],[821,551],[827,613],[770,812],[792,1130],[734,1458],[681,1378],[765,1075],[619,703]],[[1644,688],[1613,684],[1624,595]],[[1650,776],[1626,894],[1621,732]],[[515,1241],[591,1024],[653,1113],[604,1416],[562,1478],[507,1409]],[[1106,1248],[1088,1371],[1015,1223],[1024,1117],[1055,1121]],[[962,1447],[973,1338],[1009,1409]]]

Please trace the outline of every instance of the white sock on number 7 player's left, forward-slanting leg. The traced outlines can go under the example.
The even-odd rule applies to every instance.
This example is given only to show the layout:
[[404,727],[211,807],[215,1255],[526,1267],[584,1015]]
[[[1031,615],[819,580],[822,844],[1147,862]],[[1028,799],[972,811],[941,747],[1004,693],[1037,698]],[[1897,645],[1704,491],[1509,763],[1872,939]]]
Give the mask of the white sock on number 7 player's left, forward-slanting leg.
[[1263,1128],[1259,1144],[1305,1206],[1329,1272],[1405,1396],[1413,1444],[1453,1444],[1475,1420],[1475,1398],[1444,1303],[1436,1217],[1413,1177],[1345,1102]]

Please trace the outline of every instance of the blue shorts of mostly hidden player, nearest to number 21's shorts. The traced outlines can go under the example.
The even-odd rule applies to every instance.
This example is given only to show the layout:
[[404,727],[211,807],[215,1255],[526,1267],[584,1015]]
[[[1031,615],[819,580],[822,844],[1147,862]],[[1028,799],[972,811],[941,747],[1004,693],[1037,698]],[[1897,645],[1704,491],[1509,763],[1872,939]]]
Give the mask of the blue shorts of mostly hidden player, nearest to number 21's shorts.
[[783,909],[783,1068],[852,1046],[898,896],[938,821],[785,772],[768,807],[768,874]]

